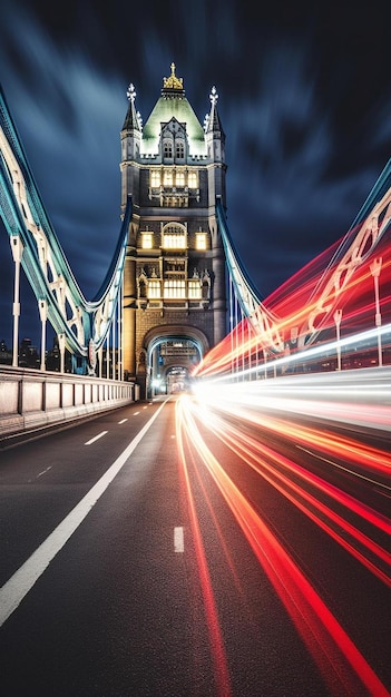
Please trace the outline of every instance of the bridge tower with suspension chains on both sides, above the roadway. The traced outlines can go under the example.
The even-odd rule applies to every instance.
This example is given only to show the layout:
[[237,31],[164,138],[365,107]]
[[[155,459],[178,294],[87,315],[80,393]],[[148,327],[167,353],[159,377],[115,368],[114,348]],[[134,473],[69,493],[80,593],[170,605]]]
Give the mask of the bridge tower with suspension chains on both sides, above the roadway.
[[[301,285],[299,278],[267,303],[248,278],[227,225],[216,88],[203,125],[174,63],[145,124],[131,84],[127,96],[121,225],[105,282],[87,300],[46,214],[1,91],[0,204],[14,264],[12,367],[18,367],[21,268],[39,307],[42,372],[47,322],[57,335],[60,373],[67,355],[72,373],[130,382],[141,397],[167,391],[178,375],[179,382],[216,373],[245,380],[358,367],[346,359],[354,352],[356,357],[358,343],[345,343],[343,355],[341,325],[345,335],[364,332],[363,361],[382,365],[391,343],[391,294],[384,284],[381,295],[380,287],[380,274],[389,278],[391,264],[391,160],[334,253],[322,257],[323,266],[314,261],[310,281]],[[374,338],[365,334],[372,325]]]

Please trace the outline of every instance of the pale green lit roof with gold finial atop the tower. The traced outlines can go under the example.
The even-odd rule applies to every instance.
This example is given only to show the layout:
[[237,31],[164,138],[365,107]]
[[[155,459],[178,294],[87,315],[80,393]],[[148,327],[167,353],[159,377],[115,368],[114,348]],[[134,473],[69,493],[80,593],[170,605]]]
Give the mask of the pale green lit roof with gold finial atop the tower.
[[167,124],[174,117],[179,124],[186,125],[190,154],[205,155],[204,129],[185,96],[183,78],[175,75],[175,63],[170,68],[172,75],[163,79],[162,96],[144,126],[143,151],[157,153],[162,124]]

